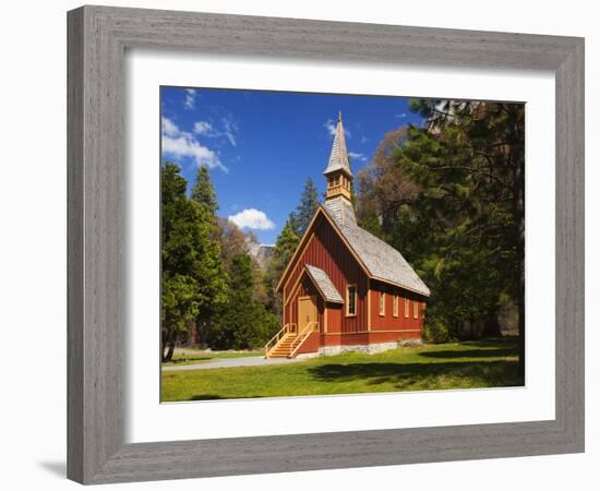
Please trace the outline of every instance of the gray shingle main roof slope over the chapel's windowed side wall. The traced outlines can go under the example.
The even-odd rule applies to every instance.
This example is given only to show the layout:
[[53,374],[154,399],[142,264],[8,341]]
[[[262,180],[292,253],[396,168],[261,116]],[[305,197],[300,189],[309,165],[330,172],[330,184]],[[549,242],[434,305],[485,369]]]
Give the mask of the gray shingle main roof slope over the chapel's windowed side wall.
[[[347,202],[343,197],[336,200]],[[334,220],[369,274],[376,279],[393,283],[429,297],[429,288],[410,267],[403,254],[360,228],[356,223],[352,205],[349,202],[347,202],[348,204],[338,203],[336,200],[326,201],[322,208]]]

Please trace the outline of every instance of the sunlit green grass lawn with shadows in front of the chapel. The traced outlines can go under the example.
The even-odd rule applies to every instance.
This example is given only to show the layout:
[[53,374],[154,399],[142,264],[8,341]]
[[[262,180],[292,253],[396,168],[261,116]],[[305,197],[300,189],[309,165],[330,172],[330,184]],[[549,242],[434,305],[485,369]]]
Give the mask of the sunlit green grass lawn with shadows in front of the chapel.
[[164,372],[161,399],[206,400],[524,385],[517,338],[400,347],[271,366]]

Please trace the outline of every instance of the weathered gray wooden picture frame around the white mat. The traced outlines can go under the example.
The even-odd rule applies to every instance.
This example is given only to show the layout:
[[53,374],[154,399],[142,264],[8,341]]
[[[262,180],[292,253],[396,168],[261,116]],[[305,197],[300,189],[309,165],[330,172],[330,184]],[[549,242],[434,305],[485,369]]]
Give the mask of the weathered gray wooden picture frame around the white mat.
[[[106,7],[69,12],[68,35],[70,479],[103,483],[584,451],[584,39]],[[127,48],[553,71],[555,419],[125,444]]]

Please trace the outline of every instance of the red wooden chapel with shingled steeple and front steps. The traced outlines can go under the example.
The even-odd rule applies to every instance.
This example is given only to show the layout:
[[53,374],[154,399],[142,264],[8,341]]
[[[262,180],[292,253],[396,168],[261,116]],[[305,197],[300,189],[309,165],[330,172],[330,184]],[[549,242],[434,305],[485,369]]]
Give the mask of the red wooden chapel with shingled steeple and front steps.
[[284,327],[266,356],[377,352],[420,339],[429,288],[396,249],[357,225],[341,116],[323,173],[325,202],[277,285]]

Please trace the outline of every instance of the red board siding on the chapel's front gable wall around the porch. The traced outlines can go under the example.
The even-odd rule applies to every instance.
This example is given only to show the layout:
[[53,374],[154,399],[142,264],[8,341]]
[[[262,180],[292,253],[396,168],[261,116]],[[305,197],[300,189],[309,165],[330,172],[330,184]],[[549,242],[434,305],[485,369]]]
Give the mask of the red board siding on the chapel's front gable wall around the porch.
[[[304,272],[304,264],[323,270],[337,290],[343,297],[346,297],[346,286],[357,285],[357,315],[348,318],[345,311],[339,311],[339,320],[337,323],[329,323],[327,319],[327,327],[329,331],[337,330],[343,333],[356,333],[367,331],[368,326],[368,277],[361,268],[358,261],[352,256],[346,244],[341,241],[332,225],[322,215],[317,217],[313,224],[311,236],[304,250],[297,259],[296,264],[288,272],[288,278],[284,286],[284,297],[286,306],[293,303],[298,289],[298,278]],[[285,311],[286,319],[284,322],[295,322],[288,319],[293,319],[293,309]]]

